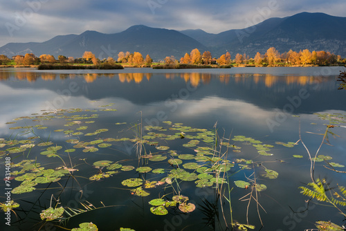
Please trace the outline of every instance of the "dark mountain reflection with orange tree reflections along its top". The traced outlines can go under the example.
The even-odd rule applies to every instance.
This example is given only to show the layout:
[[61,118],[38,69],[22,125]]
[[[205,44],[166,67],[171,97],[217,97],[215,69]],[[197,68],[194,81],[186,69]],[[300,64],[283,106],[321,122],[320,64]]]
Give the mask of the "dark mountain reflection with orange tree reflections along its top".
[[0,85],[7,85],[11,89],[44,89],[52,94],[61,94],[74,82],[78,91],[71,92],[73,97],[82,96],[89,100],[122,98],[138,105],[170,105],[171,100],[178,100],[180,104],[185,100],[198,102],[215,97],[273,110],[282,109],[289,102],[287,97],[292,98],[299,95],[300,89],[307,89],[310,96],[302,101],[295,113],[329,109],[346,111],[346,104],[340,103],[340,98],[345,98],[345,91],[337,90],[336,78],[228,73],[61,74],[0,71],[0,79],[9,80],[0,82]]

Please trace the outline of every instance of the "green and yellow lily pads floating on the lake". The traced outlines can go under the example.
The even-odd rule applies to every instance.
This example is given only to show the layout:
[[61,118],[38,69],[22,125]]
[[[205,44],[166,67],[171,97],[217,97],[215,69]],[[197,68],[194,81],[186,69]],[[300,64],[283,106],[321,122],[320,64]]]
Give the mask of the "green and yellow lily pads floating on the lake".
[[[104,107],[110,107],[104,105]],[[30,160],[26,157],[35,156],[39,153],[47,158],[68,158],[69,154],[97,154],[100,149],[112,148],[118,142],[129,141],[136,145],[143,145],[143,152],[139,153],[140,163],[134,167],[132,165],[125,165],[124,161],[112,160],[98,160],[92,166],[98,169],[96,174],[89,175],[90,181],[107,181],[107,178],[120,174],[121,172],[136,171],[138,178],[125,178],[121,185],[123,187],[131,188],[129,192],[134,196],[149,196],[150,189],[154,187],[167,187],[174,188],[173,184],[179,187],[181,183],[190,183],[192,187],[217,187],[219,184],[228,184],[230,179],[227,172],[235,167],[241,169],[253,169],[254,167],[262,167],[263,171],[261,176],[264,178],[275,179],[279,173],[272,169],[267,169],[264,165],[258,165],[253,160],[246,158],[235,158],[235,156],[242,155],[242,147],[244,145],[252,146],[254,151],[257,151],[261,156],[273,156],[272,149],[275,147],[271,144],[265,144],[260,140],[248,138],[246,136],[233,136],[228,142],[219,142],[215,131],[208,131],[207,129],[197,129],[184,126],[181,123],[173,123],[170,121],[163,122],[163,126],[143,126],[143,136],[131,138],[113,138],[109,137],[109,129],[98,129],[98,123],[95,121],[100,115],[95,112],[102,111],[116,111],[116,109],[106,108],[101,110],[82,110],[82,109],[66,109],[57,111],[44,111],[42,115],[33,114],[33,116],[26,116],[16,118],[7,124],[15,124],[18,121],[25,122],[26,126],[10,127],[12,130],[17,130],[15,138],[2,138],[0,139],[0,159],[7,155],[16,155],[16,157],[24,158],[18,163],[12,163],[11,168],[17,169],[12,171],[12,176],[15,176],[15,181],[21,182],[19,186],[14,187],[13,194],[21,194],[33,192],[37,184],[55,183],[60,181],[64,176],[73,174],[78,169],[73,169],[64,166],[57,166],[55,168],[42,167],[37,160]],[[346,116],[338,116],[334,118],[333,115],[319,115],[323,120],[330,122],[345,122]],[[28,120],[31,120],[35,125],[28,125]],[[54,143],[54,140],[42,140],[36,133],[40,130],[49,131],[50,122],[56,125],[57,122],[64,123],[66,129],[51,128],[51,132],[62,133],[66,144]],[[43,123],[43,124],[42,124]],[[90,126],[92,124],[93,126]],[[125,122],[116,122],[115,129],[119,125],[126,125]],[[37,130],[36,130],[37,129]],[[33,136],[30,136],[32,134]],[[25,136],[25,139],[20,140],[18,137]],[[30,136],[30,137],[28,137]],[[178,141],[179,142],[176,142]],[[176,143],[181,144],[177,150],[170,149]],[[295,142],[275,142],[275,145],[282,145],[284,147],[294,147],[297,145]],[[235,154],[228,154],[228,157],[222,156],[224,151],[218,150],[226,149],[233,151]],[[293,155],[295,158],[302,158],[300,155]],[[85,159],[84,159],[85,160]],[[87,160],[87,158],[86,158]],[[318,161],[331,160],[331,156],[319,155],[314,159]],[[61,162],[60,162],[61,163]],[[329,163],[333,167],[344,167],[338,163]],[[148,179],[150,177],[150,180]],[[234,181],[235,186],[243,189],[250,187],[257,190],[257,192],[266,190],[266,185],[260,183],[257,179],[256,183],[252,181]],[[161,186],[162,185],[162,186]],[[179,191],[179,190],[178,190]],[[182,212],[192,212],[195,205],[188,203],[188,196],[182,196],[180,192],[171,198],[156,198],[149,201],[152,205],[150,211],[154,214],[164,215],[167,214],[168,207],[178,206]],[[15,208],[17,203],[11,204]],[[19,205],[18,205],[19,206]],[[4,210],[5,208],[3,208]],[[7,209],[7,208],[6,208]],[[49,208],[53,209],[53,208]],[[53,209],[57,215],[60,210]],[[56,211],[55,211],[56,210]],[[52,211],[46,211],[47,214],[55,214]],[[46,221],[50,221],[49,217],[43,212],[42,217]],[[59,216],[52,216],[59,219]],[[86,227],[84,223],[80,228]],[[94,224],[93,224],[94,225]],[[93,225],[91,225],[93,228]],[[74,230],[78,230],[74,229]]]

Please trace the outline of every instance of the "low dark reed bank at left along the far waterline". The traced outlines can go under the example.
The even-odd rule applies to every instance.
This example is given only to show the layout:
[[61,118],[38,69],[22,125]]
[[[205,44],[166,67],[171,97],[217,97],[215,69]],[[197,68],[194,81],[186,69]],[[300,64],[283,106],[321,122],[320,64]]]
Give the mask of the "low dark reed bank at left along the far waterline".
[[76,70],[76,69],[99,69],[99,70],[113,70],[123,69],[118,64],[98,64],[98,65],[69,65],[69,64],[40,64],[38,70]]

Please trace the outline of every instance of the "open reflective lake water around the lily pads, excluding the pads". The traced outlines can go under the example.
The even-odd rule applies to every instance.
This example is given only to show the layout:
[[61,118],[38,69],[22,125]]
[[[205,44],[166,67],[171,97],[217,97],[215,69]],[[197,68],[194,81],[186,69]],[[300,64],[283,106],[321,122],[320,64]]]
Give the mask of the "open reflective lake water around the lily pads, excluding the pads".
[[[324,133],[325,124],[329,124],[329,121],[321,120],[316,113],[341,113],[345,117],[346,91],[337,90],[336,81],[341,70],[342,67],[231,68],[197,71],[153,71],[149,68],[131,68],[108,72],[6,69],[0,71],[0,138],[20,140],[33,136],[33,134],[19,136],[19,131],[9,129],[9,127],[26,126],[31,120],[19,120],[17,124],[6,124],[6,122],[33,113],[44,113],[42,110],[57,109],[98,110],[74,114],[98,114],[96,122],[89,124],[88,129],[92,131],[109,129],[98,135],[98,138],[103,139],[133,138],[134,128],[129,128],[140,122],[143,126],[164,127],[166,125],[163,121],[168,120],[173,124],[183,123],[185,126],[208,130],[215,130],[216,126],[221,137],[246,136],[274,146],[270,151],[273,156],[258,155],[252,145],[242,145],[241,152],[228,151],[227,155],[230,161],[235,161],[237,158],[255,161],[256,179],[267,187],[257,195],[265,212],[259,207],[260,216],[258,215],[256,197],[251,198],[248,207],[248,223],[255,225],[255,230],[260,230],[261,220],[264,225],[262,230],[304,230],[315,228],[313,224],[318,220],[330,220],[343,225],[345,217],[340,215],[336,208],[316,205],[313,203],[316,200],[312,200],[308,206],[306,201],[309,197],[300,194],[298,187],[311,182],[310,160],[302,143],[292,148],[275,144],[275,142],[296,142],[300,139],[299,131],[301,131],[304,144],[312,155],[316,154],[323,138],[316,133]],[[100,106],[104,105],[109,105],[107,108],[117,111],[99,111],[102,109]],[[116,122],[127,124],[114,125]],[[64,149],[73,148],[73,145],[65,142],[69,138],[53,131],[66,129],[63,126],[66,121],[54,119],[40,124],[47,126],[48,129],[35,130],[35,135],[42,140],[51,140],[57,145],[62,145]],[[320,155],[331,156],[331,161],[340,165],[345,165],[345,126],[344,119],[341,124],[336,124],[330,129],[335,135],[329,133],[329,140],[325,140],[318,152]],[[86,136],[79,138],[92,140]],[[184,140],[162,142],[160,145],[167,145],[179,154],[195,154],[193,149],[181,148]],[[233,140],[230,142],[235,143]],[[4,147],[3,150],[6,148],[8,147]],[[44,147],[34,147],[30,155],[28,151],[24,154],[10,154],[11,161],[18,163],[23,158],[37,158],[37,162],[46,168],[62,164],[60,159],[39,155],[42,149]],[[147,146],[147,151],[158,150]],[[159,153],[167,154],[165,151]],[[293,158],[293,155],[302,155],[303,158]],[[149,196],[140,197],[131,195],[129,188],[122,186],[121,182],[126,178],[138,177],[159,181],[167,174],[162,176],[150,172],[138,174],[133,170],[102,181],[89,181],[91,175],[98,173],[98,169],[91,167],[97,160],[116,162],[126,159],[127,162],[122,165],[134,167],[143,165],[143,161],[138,161],[136,158],[136,149],[133,148],[132,142],[118,142],[111,148],[100,149],[95,153],[75,151],[70,157],[64,155],[62,151],[62,158],[79,170],[75,172],[76,177],[63,178],[59,181],[61,185],[52,183],[49,185],[51,189],[48,190],[45,190],[48,187],[48,184],[45,184],[37,185],[35,192],[11,194],[12,199],[21,205],[15,210],[17,217],[14,213],[11,214],[12,230],[39,230],[40,225],[44,224],[39,219],[39,213],[49,207],[51,201],[55,202],[58,196],[61,203],[58,207],[83,208],[80,202],[84,201],[95,207],[102,207],[102,203],[107,206],[116,205],[73,216],[68,222],[60,224],[69,229],[78,227],[79,223],[92,221],[100,230],[118,230],[120,227],[134,230],[226,230],[224,216],[230,227],[229,204],[222,198],[224,206],[224,216],[222,216],[221,204],[215,199],[215,185],[197,188],[192,182],[181,182],[179,184],[181,194],[188,196],[197,210],[183,214],[177,208],[170,208],[169,214],[156,216],[149,212],[151,206],[148,202],[165,194],[169,194],[167,197],[172,197],[170,194],[172,190],[156,187],[149,190]],[[4,160],[3,156],[1,161]],[[156,168],[172,169],[167,162],[152,165]],[[323,165],[326,163],[316,163],[316,178],[325,178],[330,187],[346,186],[345,173],[333,172]],[[265,168],[278,172],[278,177],[275,179],[263,177]],[[248,201],[239,201],[239,198],[246,196],[251,190],[236,187],[233,182],[254,178],[254,169],[237,172],[239,169],[239,166],[235,165],[229,174],[233,174],[229,178],[230,189],[233,188],[230,192],[232,215],[233,220],[247,223]],[[336,169],[345,172],[345,167]],[[0,172],[4,177],[4,164],[1,165]],[[11,183],[12,187],[19,185],[15,180]],[[0,187],[2,191],[6,191],[4,183],[1,183]],[[225,189],[228,190],[228,187],[224,186]],[[228,196],[224,191],[223,194]],[[4,194],[1,194],[1,198],[2,201],[6,201]],[[218,207],[219,216],[212,216],[215,218],[215,228],[210,223],[205,225],[208,219],[206,213],[202,211],[202,201],[206,200],[210,203],[216,201]],[[345,208],[339,207],[346,212]],[[11,230],[5,224],[6,220],[1,220],[1,230]],[[43,225],[42,230],[62,229],[48,223]]]

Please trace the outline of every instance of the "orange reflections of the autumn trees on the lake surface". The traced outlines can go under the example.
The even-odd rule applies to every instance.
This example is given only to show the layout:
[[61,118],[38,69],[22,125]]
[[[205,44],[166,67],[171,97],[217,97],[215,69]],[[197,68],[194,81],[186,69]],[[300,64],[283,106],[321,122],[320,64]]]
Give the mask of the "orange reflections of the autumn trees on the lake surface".
[[[85,82],[91,83],[100,77],[118,77],[119,81],[122,83],[136,82],[139,84],[143,80],[149,81],[152,77],[152,73],[108,73],[108,74],[98,74],[98,73],[86,73],[86,74],[56,74],[56,73],[35,73],[26,71],[3,71],[0,72],[0,80],[10,80],[14,77],[16,80],[27,80],[28,82],[35,82],[39,78],[42,80],[56,80],[56,79],[75,79],[75,77],[83,77]],[[214,75],[215,76],[215,75]],[[168,80],[173,80],[174,78],[182,78],[186,83],[194,87],[199,86],[200,83],[209,84],[212,79],[211,73],[165,73],[165,77]],[[218,75],[217,79],[219,82],[228,84],[230,78],[234,80],[236,84],[248,82],[248,77],[253,77],[253,83],[264,84],[264,86],[271,88],[275,84],[298,84],[300,86],[305,86],[307,84],[320,84],[321,82],[327,81],[321,77],[315,76],[277,76],[277,75],[264,75],[264,74],[223,74]]]

